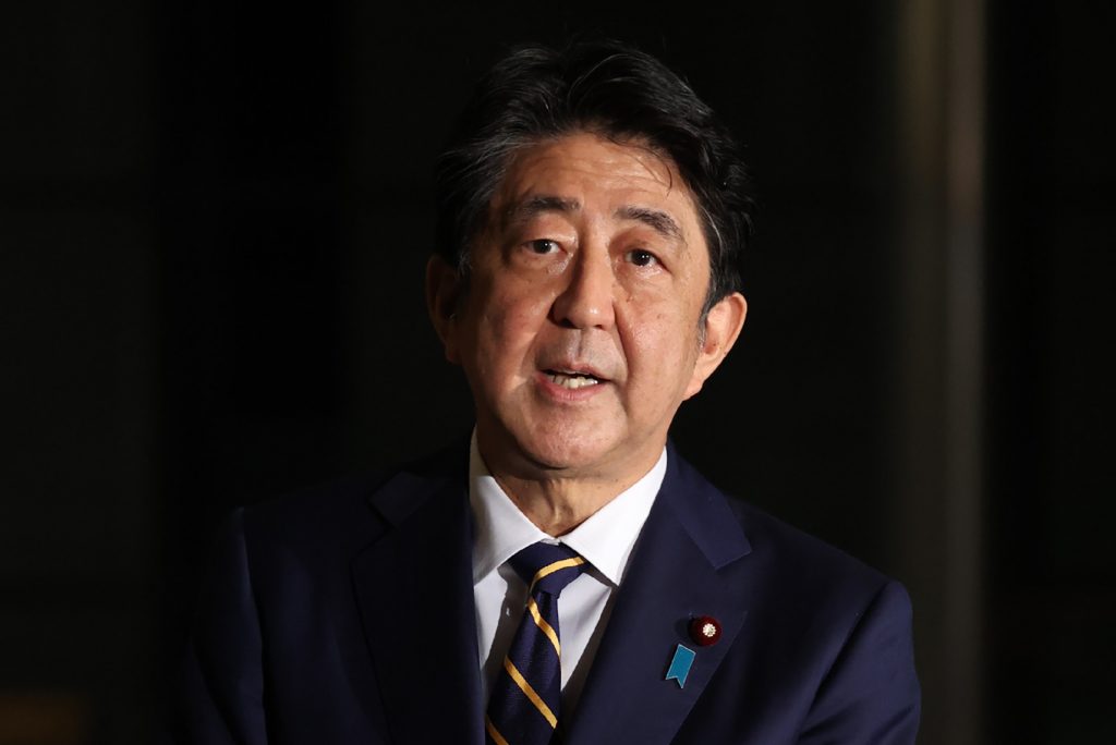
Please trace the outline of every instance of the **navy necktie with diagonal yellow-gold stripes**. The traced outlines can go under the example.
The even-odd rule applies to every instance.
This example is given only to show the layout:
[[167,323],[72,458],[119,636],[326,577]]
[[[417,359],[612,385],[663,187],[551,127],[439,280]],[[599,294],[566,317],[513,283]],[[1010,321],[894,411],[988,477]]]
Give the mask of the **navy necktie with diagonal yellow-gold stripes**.
[[536,543],[510,560],[528,584],[527,608],[489,697],[484,729],[492,745],[546,745],[558,726],[561,645],[558,596],[585,571],[566,545]]

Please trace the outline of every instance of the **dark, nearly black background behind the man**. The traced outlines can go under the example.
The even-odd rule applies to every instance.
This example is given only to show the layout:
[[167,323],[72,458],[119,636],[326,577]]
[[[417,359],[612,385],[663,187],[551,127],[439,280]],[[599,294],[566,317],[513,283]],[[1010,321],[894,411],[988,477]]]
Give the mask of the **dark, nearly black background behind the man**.
[[1116,742],[1114,6],[609,8],[3,11],[0,745],[148,742],[221,515],[468,430],[433,162],[493,59],[585,29],[760,191],[682,452],[907,584],[921,742]]

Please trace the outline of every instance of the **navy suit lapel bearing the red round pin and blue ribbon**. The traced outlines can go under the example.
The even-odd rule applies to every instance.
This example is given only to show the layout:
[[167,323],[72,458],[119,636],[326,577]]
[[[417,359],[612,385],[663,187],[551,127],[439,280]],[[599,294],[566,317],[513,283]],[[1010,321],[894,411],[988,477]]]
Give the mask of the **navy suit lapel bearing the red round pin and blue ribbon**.
[[[670,743],[744,623],[750,546],[725,497],[670,449],[667,475],[639,535],[567,731],[568,745]],[[721,639],[699,647],[690,619]],[[665,680],[679,644],[696,652],[685,686]]]

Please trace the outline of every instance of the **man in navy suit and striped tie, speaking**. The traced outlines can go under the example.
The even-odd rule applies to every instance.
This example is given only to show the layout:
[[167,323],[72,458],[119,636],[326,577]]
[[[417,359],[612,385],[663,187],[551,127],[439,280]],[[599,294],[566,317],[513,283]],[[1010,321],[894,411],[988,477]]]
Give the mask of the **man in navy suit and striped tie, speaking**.
[[709,108],[631,49],[522,50],[439,190],[471,442],[234,515],[181,739],[913,742],[903,589],[667,441],[745,315],[751,202]]

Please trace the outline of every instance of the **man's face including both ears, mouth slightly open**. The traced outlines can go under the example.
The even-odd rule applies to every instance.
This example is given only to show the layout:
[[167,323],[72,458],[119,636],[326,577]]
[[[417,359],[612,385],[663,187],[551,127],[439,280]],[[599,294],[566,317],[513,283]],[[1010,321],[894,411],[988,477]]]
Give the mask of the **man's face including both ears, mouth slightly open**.
[[[673,164],[588,133],[513,159],[470,259],[435,323],[493,472],[638,477],[743,321],[737,294],[701,322],[709,250]],[[435,307],[452,284],[434,281]]]

